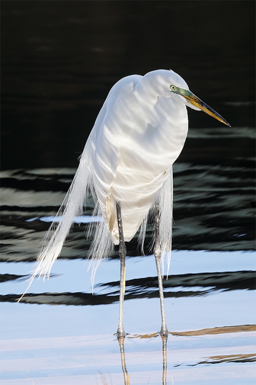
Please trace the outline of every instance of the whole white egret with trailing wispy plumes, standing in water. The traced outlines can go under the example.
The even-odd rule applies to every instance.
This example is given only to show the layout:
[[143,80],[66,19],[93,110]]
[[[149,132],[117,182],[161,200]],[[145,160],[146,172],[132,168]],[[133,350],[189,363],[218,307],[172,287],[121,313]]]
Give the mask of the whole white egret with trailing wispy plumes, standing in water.
[[[110,90],[87,140],[74,180],[37,255],[30,282],[50,275],[60,255],[74,216],[83,213],[88,193],[103,221],[97,223],[90,256],[93,276],[102,257],[119,244],[121,261],[120,305],[117,337],[125,337],[123,303],[125,293],[125,241],[140,228],[143,245],[147,217],[155,213],[154,254],[160,290],[161,330],[167,336],[164,314],[161,253],[171,253],[172,164],[184,146],[188,132],[187,107],[202,110],[224,124],[222,116],[198,99],[182,77],[173,71],[157,70],[145,76],[119,80]],[[54,232],[53,232],[54,231]],[[31,283],[30,283],[31,284]]]

